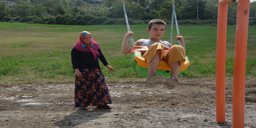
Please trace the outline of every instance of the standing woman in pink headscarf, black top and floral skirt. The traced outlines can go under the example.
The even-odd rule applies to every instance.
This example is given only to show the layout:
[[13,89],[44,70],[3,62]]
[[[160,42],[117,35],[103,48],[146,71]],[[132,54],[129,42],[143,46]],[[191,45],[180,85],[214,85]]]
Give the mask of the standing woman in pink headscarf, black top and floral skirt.
[[71,51],[71,61],[75,78],[75,107],[88,110],[88,106],[111,109],[111,98],[106,80],[99,66],[99,60],[111,72],[99,45],[88,31],[82,31]]

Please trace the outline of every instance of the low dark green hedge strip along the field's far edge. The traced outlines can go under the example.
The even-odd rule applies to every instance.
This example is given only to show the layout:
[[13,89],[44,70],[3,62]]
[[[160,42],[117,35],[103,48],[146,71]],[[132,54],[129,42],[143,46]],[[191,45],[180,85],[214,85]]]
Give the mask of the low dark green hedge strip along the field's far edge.
[[[155,19],[155,18],[153,18]],[[21,22],[32,24],[63,24],[63,25],[126,25],[125,18],[108,18],[97,17],[94,15],[57,15],[44,17],[4,17],[3,22]],[[129,25],[148,24],[152,19],[140,20],[129,18]],[[171,24],[171,20],[165,21],[166,24]],[[217,20],[201,20],[201,19],[182,19],[178,20],[178,25],[211,25],[216,26]],[[256,19],[250,20],[250,25],[256,24]],[[175,22],[174,22],[175,24]],[[228,25],[236,24],[235,20],[229,20]]]

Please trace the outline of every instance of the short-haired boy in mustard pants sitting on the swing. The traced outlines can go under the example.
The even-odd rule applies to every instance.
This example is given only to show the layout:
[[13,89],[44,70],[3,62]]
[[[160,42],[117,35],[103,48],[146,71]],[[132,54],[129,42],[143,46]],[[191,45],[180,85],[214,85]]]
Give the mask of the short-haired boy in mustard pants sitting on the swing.
[[[150,34],[148,39],[139,39],[134,44],[135,46],[150,46],[148,50],[143,54],[143,58],[148,64],[147,73],[147,83],[146,86],[149,88],[154,88],[159,82],[165,79],[164,76],[156,74],[157,66],[160,60],[166,61],[171,67],[170,77],[166,79],[165,87],[168,89],[174,89],[178,86],[179,82],[177,80],[180,67],[184,65],[186,61],[185,53],[185,42],[183,36],[177,35],[176,39],[180,39],[180,45],[171,45],[167,41],[161,41],[160,38],[165,33],[166,23],[161,19],[153,19],[148,23],[147,32]],[[124,37],[122,43],[122,54],[131,53],[131,47],[128,46],[128,39],[130,35],[133,35],[132,31],[128,31]],[[170,48],[166,53],[164,53],[164,47]]]

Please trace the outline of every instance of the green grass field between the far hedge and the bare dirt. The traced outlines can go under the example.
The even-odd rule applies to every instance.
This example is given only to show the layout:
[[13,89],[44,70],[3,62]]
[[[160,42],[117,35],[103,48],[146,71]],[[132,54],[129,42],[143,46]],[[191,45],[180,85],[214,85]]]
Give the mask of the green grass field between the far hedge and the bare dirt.
[[[147,25],[131,25],[134,41],[149,38]],[[47,25],[0,23],[0,83],[74,81],[71,49],[81,31],[89,31],[114,68],[109,72],[101,64],[107,80],[137,80],[130,66],[131,54],[121,54],[125,25]],[[233,75],[236,26],[227,27],[226,76]],[[246,76],[256,77],[256,26],[249,26]],[[162,40],[170,42],[168,25]],[[190,65],[183,78],[216,77],[216,26],[179,26],[184,36]],[[177,35],[174,28],[174,36]],[[175,38],[173,38],[175,39]],[[173,44],[178,44],[173,40]]]

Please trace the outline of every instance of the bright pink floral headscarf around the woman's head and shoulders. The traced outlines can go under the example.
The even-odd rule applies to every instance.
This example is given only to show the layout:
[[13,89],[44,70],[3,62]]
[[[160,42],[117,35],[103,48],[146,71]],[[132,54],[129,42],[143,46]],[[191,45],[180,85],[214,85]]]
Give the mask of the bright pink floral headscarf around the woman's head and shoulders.
[[97,55],[99,56],[99,52],[97,51],[99,49],[99,45],[93,39],[89,44],[84,43],[83,40],[86,35],[90,35],[92,38],[91,33],[88,31],[82,31],[74,48],[79,51],[91,51],[93,53],[94,59],[96,59]]

